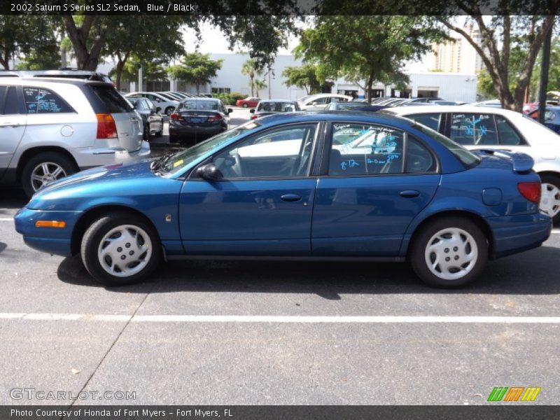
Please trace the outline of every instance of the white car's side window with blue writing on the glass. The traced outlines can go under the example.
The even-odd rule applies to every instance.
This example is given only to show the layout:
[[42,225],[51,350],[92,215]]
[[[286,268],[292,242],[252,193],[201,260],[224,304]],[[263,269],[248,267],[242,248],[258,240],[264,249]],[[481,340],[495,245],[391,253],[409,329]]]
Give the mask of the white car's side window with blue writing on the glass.
[[485,113],[452,113],[451,140],[470,146],[496,146],[498,135],[493,115]]

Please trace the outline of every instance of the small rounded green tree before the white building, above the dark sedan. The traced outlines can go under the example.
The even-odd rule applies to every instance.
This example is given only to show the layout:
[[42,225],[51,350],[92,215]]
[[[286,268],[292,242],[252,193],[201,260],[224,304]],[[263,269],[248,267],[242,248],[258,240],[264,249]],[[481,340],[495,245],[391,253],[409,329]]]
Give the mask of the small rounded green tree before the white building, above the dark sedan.
[[200,85],[206,85],[216,77],[216,73],[222,67],[222,62],[221,59],[210,59],[209,54],[191,52],[183,57],[181,64],[170,66],[168,71],[172,77],[195,85],[197,94],[199,94]]

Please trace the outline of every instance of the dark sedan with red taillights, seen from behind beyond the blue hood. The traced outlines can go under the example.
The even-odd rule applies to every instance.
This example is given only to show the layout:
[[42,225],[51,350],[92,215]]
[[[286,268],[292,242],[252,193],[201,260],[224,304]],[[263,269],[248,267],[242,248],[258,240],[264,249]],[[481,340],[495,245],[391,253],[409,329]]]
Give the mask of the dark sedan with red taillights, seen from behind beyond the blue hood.
[[184,99],[169,116],[169,141],[192,146],[230,127],[231,109],[220,99]]

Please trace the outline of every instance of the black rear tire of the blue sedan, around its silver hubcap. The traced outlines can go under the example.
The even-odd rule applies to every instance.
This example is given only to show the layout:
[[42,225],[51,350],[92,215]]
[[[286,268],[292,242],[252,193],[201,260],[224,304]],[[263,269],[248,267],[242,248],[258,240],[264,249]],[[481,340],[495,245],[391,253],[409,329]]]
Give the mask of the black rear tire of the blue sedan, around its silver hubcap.
[[[428,244],[436,244],[439,239],[432,240],[434,235],[439,233],[442,230],[449,230],[452,228],[458,228],[463,232],[467,232],[470,235],[470,239],[465,240],[465,252],[468,252],[469,255],[474,254],[474,249],[471,248],[471,242],[474,241],[475,246],[477,247],[477,257],[472,259],[472,265],[470,262],[465,262],[463,266],[465,269],[468,269],[468,272],[463,276],[460,276],[456,279],[445,279],[444,276],[454,276],[460,275],[460,269],[452,267],[452,269],[458,270],[456,273],[451,272],[451,270],[446,270],[442,267],[443,265],[437,264],[434,268],[435,272],[440,272],[440,276],[436,275],[432,270],[428,267],[428,262],[426,261],[426,248]],[[446,235],[446,234],[444,234]],[[450,236],[452,237],[452,236]],[[456,237],[460,237],[461,239],[466,238],[466,236],[456,235]],[[444,246],[442,244],[442,246]],[[456,249],[458,248],[458,249]],[[455,257],[458,256],[458,262],[461,262],[461,245],[455,247],[454,244],[451,244],[449,247],[442,247],[440,252],[443,253],[445,258],[450,258],[449,262],[453,263],[456,259]],[[446,251],[447,250],[447,251]],[[434,251],[429,255],[430,258],[434,258],[437,251]],[[449,257],[447,257],[449,255]],[[441,218],[437,218],[434,221],[428,223],[427,225],[423,226],[421,230],[414,235],[410,252],[409,252],[409,262],[416,273],[416,276],[429,286],[437,287],[437,288],[460,288],[468,283],[474,281],[477,276],[482,272],[484,266],[486,265],[486,261],[488,260],[488,240],[484,235],[484,232],[480,230],[480,228],[470,221],[468,218],[462,218],[460,216],[442,216]],[[443,261],[442,261],[443,262]]]

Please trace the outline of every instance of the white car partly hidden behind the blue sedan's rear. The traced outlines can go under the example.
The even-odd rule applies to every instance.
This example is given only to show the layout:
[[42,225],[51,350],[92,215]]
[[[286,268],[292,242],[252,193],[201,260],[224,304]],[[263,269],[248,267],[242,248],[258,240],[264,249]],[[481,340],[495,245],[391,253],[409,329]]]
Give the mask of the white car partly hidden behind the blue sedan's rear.
[[426,125],[470,150],[522,152],[542,181],[540,210],[560,223],[560,136],[522,113],[479,106],[397,106],[384,113]]

